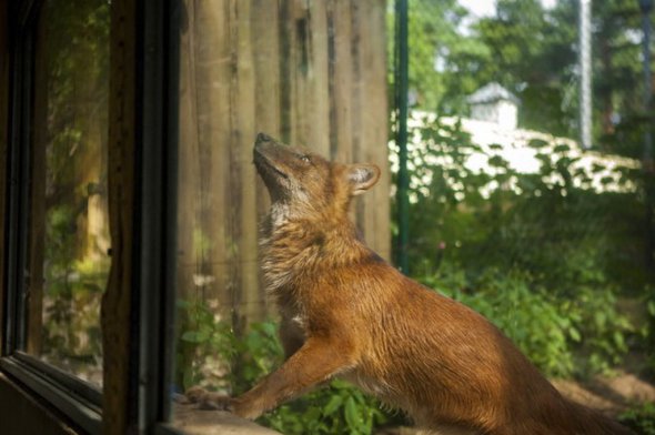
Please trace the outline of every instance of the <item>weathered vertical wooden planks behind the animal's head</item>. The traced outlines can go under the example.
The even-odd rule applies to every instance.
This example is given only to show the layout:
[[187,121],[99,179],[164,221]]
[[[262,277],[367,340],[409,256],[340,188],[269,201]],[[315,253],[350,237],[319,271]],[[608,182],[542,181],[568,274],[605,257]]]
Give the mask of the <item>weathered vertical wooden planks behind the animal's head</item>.
[[[263,131],[381,166],[357,200],[369,243],[390,255],[383,0],[187,0],[181,68],[179,286],[225,313],[266,312],[258,222],[268,195],[252,165]],[[213,306],[213,305],[212,305]]]

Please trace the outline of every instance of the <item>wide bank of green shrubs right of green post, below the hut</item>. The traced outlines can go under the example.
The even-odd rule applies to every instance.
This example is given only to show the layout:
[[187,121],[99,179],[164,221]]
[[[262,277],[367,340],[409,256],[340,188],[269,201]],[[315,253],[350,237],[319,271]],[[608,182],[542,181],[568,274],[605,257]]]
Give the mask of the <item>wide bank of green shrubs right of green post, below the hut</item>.
[[[547,375],[619,363],[636,331],[617,295],[648,284],[637,194],[591,189],[564,143],[532,143],[541,169],[521,173],[457,122],[426,120],[413,136],[411,274],[488,317]],[[490,169],[470,169],[471,155]]]

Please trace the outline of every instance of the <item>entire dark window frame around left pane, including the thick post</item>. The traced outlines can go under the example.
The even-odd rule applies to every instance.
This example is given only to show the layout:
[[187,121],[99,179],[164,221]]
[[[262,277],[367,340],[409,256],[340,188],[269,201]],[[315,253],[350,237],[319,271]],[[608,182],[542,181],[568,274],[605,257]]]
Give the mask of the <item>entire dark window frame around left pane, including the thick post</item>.
[[[103,361],[103,391],[109,392],[103,394],[21,351],[26,292],[20,271],[27,265],[29,233],[33,47],[43,1],[16,0],[3,6],[7,17],[17,19],[9,23],[7,41],[7,165],[0,183],[6,193],[0,205],[7,212],[0,246],[4,259],[0,265],[4,272],[0,289],[0,373],[42,398],[82,433],[179,433],[167,422],[174,363],[180,4],[178,0],[112,0],[110,6],[108,171],[114,172],[108,191],[110,225],[114,227],[105,295],[110,293],[107,305],[113,301],[115,307],[128,310],[129,322],[120,323],[122,318],[105,310],[103,296],[102,324],[110,324],[121,338],[114,345],[103,337],[103,353],[118,355],[112,356],[115,364]],[[127,200],[122,196],[125,192]],[[123,239],[118,246],[117,231]]]

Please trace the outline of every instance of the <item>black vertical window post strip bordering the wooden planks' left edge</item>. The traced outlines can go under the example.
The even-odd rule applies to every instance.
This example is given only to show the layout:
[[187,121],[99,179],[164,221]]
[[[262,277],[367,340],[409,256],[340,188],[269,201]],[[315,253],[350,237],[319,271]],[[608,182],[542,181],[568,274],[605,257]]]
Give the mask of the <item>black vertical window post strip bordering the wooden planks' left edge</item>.
[[[157,434],[179,434],[168,422],[175,355],[181,2],[144,1],[142,8],[143,52],[137,55],[138,62],[143,62],[138,74],[142,82],[137,87],[142,92],[142,110],[138,111],[142,119],[137,129],[142,178],[135,201],[140,227],[134,260],[141,262],[139,377],[151,382],[140,392],[139,425]],[[148,340],[152,336],[157,340]]]

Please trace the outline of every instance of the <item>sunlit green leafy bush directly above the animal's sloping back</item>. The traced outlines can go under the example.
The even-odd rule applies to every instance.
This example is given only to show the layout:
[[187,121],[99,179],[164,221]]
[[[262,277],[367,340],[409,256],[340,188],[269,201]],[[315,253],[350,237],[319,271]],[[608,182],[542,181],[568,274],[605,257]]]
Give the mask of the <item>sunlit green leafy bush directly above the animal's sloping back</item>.
[[612,292],[583,289],[561,300],[524,272],[492,269],[471,279],[452,265],[421,281],[483,314],[548,376],[597,373],[627,351],[632,326]]

